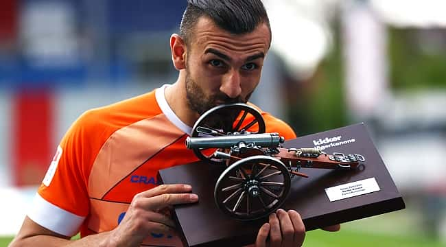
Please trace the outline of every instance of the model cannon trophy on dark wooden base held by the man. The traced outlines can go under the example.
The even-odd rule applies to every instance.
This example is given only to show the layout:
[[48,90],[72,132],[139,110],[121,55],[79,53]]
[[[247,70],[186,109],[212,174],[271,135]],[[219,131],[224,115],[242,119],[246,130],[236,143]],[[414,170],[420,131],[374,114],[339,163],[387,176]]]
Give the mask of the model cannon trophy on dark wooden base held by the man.
[[185,145],[200,162],[159,177],[200,196],[174,208],[187,246],[253,244],[279,208],[298,211],[310,231],[405,207],[364,124],[285,141],[252,106],[228,104],[204,113]]

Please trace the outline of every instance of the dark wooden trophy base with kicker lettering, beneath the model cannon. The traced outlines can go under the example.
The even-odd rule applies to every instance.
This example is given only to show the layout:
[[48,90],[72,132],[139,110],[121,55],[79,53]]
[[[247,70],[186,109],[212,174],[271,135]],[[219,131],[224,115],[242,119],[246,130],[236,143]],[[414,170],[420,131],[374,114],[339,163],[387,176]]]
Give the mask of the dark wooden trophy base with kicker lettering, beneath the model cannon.
[[[317,144],[317,145],[316,145]],[[325,146],[324,152],[362,154],[364,166],[353,171],[302,168],[309,178],[294,177],[283,209],[298,211],[307,231],[372,215],[404,209],[405,204],[395,187],[382,158],[364,124],[328,130],[284,143],[284,148]],[[179,165],[159,172],[162,183],[192,185],[200,201],[174,208],[186,246],[242,246],[253,244],[260,226],[268,218],[243,222],[225,215],[214,202],[215,182],[226,167],[203,162]],[[325,189],[374,178],[379,191],[330,201]]]

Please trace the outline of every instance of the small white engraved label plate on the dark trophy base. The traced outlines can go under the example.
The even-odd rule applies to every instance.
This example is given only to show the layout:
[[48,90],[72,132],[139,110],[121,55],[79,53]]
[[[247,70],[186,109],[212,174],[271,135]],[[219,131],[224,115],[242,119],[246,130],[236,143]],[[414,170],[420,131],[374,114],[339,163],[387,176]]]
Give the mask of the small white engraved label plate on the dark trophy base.
[[353,196],[361,196],[366,193],[372,193],[379,190],[380,189],[375,178],[367,178],[345,185],[326,188],[325,193],[327,193],[330,202],[334,202],[336,200],[351,198]]

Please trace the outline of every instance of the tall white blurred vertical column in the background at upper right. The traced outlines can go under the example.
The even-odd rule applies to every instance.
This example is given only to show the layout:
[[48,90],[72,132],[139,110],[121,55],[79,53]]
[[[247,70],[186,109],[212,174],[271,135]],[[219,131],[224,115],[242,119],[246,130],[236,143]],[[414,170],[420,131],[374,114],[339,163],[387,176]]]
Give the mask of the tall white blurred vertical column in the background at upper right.
[[344,1],[344,91],[353,119],[371,119],[389,97],[386,27],[363,1]]

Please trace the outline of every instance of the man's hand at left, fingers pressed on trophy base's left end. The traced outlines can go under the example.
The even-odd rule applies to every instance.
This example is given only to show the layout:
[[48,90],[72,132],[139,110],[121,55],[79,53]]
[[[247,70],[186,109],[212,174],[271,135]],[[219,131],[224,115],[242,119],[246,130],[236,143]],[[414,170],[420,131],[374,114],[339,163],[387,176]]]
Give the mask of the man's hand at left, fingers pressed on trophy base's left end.
[[126,216],[109,235],[105,246],[139,246],[151,232],[168,233],[174,222],[163,213],[174,204],[198,201],[190,185],[159,185],[134,196]]

